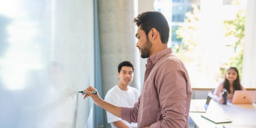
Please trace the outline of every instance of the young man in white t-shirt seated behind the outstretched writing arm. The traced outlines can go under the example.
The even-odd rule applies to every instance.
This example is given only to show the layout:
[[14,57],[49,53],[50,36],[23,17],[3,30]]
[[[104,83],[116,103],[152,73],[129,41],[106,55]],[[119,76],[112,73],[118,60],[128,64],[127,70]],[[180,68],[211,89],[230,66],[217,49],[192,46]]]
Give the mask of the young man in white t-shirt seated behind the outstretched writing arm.
[[[133,65],[129,61],[124,61],[118,65],[118,85],[108,90],[105,101],[119,106],[134,106],[140,93],[136,88],[129,86],[132,82],[133,72]],[[107,120],[108,123],[111,123],[112,128],[137,128],[137,123],[130,124],[109,112],[107,112]]]

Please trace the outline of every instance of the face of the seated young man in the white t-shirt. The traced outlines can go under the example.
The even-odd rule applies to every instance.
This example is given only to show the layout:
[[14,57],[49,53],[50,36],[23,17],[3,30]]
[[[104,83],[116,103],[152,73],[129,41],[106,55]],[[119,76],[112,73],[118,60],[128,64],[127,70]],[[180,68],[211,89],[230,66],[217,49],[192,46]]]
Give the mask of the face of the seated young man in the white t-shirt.
[[133,70],[130,66],[123,66],[120,70],[120,73],[117,73],[119,82],[123,85],[128,85],[132,82]]

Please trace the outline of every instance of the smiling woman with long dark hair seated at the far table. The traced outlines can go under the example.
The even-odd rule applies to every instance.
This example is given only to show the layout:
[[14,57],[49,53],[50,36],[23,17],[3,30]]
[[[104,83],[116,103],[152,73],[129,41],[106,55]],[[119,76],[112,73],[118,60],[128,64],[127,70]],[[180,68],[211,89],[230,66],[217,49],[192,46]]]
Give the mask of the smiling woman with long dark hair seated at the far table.
[[235,90],[245,90],[240,84],[239,73],[236,67],[230,67],[227,69],[224,81],[213,92],[213,99],[219,103],[223,103],[224,99],[221,95],[223,89],[227,89],[227,99],[232,99]]

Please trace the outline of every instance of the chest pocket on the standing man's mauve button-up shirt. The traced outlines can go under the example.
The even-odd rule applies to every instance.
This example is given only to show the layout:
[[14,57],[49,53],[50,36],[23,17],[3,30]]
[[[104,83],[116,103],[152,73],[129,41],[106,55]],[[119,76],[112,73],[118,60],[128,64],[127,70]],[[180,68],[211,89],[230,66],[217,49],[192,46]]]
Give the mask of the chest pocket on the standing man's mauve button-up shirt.
[[151,82],[145,82],[143,86],[143,92],[142,92],[142,103],[143,105],[148,105],[150,101],[150,86]]

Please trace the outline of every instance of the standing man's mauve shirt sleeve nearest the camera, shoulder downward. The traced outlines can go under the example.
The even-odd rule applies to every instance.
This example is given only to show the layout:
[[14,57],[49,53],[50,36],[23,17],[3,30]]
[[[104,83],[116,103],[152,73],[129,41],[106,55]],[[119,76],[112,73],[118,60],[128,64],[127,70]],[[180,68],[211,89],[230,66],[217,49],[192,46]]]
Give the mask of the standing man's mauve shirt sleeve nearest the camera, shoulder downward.
[[175,60],[166,60],[156,74],[163,120],[150,128],[184,128],[186,125],[186,73]]

